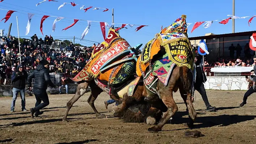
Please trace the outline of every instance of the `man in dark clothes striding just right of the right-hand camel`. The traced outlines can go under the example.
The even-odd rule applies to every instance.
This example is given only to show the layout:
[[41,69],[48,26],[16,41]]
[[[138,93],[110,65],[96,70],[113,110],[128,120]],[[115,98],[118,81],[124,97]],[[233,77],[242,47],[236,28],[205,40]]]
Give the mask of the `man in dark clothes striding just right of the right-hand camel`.
[[205,83],[207,79],[206,79],[202,64],[200,63],[200,59],[198,56],[195,57],[194,62],[195,62],[195,64],[194,64],[194,88],[202,96],[202,99],[204,100],[204,103],[206,106],[206,110],[208,110],[208,111],[214,110],[216,107],[210,105],[207,95],[206,95],[206,91],[205,91],[203,83]]

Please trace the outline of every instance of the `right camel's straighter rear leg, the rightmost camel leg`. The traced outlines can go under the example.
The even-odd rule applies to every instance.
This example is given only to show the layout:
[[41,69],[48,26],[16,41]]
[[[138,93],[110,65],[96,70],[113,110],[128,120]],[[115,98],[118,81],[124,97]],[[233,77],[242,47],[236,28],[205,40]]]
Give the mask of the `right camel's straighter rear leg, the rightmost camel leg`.
[[188,127],[192,128],[194,126],[197,114],[192,104],[191,93],[185,92],[182,88],[180,87],[180,95],[182,96],[182,99],[184,100],[185,105],[187,106],[188,109],[189,123],[187,123],[187,125]]

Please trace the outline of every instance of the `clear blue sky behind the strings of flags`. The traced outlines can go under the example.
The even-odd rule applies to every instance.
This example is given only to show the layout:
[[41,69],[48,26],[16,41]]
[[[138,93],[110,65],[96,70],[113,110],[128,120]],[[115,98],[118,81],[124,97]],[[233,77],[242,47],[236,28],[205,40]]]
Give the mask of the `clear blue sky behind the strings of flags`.
[[[16,10],[10,19],[4,23],[0,22],[0,29],[5,29],[8,32],[9,25],[12,23],[11,35],[18,36],[17,21],[18,16],[19,31],[21,38],[30,38],[32,35],[37,36],[52,35],[54,39],[71,39],[72,37],[81,38],[81,34],[87,27],[87,21],[78,21],[76,25],[66,31],[61,31],[65,27],[73,23],[73,19],[83,19],[90,21],[112,22],[112,8],[114,8],[114,22],[115,23],[129,23],[135,25],[148,25],[141,30],[135,32],[136,26],[128,29],[120,30],[120,36],[128,41],[131,46],[138,43],[146,44],[149,40],[154,38],[154,35],[161,31],[161,26],[168,27],[179,18],[182,14],[187,16],[187,23],[211,21],[217,19],[226,19],[227,15],[232,15],[232,0],[183,0],[183,3],[177,1],[149,1],[149,0],[74,0],[76,4],[85,5],[86,7],[94,6],[100,8],[108,8],[107,12],[102,12],[103,9],[92,10],[89,9],[86,13],[80,10],[80,5],[71,6],[65,5],[58,10],[58,7],[64,2],[70,3],[70,0],[58,0],[59,2],[46,1],[38,6],[37,3],[43,0],[4,0],[0,3],[0,9]],[[73,2],[73,1],[72,1]],[[235,16],[254,16],[256,15],[256,0],[235,0]],[[0,19],[4,18],[7,10],[0,10]],[[27,25],[27,13],[34,13],[31,20],[30,33],[25,37]],[[40,21],[43,15],[61,16],[65,19],[56,23],[55,32],[52,32],[52,24],[55,17],[47,18],[43,23],[43,34],[40,32]],[[72,19],[73,18],[73,19]],[[250,18],[250,17],[249,17]],[[248,26],[249,18],[235,19],[235,32],[255,31],[256,18]],[[218,21],[219,22],[219,21]],[[191,33],[193,24],[188,26],[188,36],[203,36],[206,33],[226,34],[232,32],[232,21],[226,25],[214,22],[211,27],[205,29],[198,27]],[[204,25],[204,24],[203,24]],[[115,27],[121,24],[115,24]],[[106,29],[108,31],[108,29]],[[73,39],[73,38],[72,38]],[[98,22],[92,22],[88,34],[85,36],[86,40],[93,42],[85,42],[75,40],[75,43],[91,46],[94,42],[103,42],[103,35]],[[96,43],[97,44],[97,43]]]

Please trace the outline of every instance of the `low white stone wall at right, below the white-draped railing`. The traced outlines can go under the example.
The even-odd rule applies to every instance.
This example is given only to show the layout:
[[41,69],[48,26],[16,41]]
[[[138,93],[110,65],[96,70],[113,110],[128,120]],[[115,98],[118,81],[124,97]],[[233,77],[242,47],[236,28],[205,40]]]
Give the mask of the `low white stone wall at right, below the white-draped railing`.
[[207,77],[205,90],[247,90],[248,82],[245,76],[240,77]]

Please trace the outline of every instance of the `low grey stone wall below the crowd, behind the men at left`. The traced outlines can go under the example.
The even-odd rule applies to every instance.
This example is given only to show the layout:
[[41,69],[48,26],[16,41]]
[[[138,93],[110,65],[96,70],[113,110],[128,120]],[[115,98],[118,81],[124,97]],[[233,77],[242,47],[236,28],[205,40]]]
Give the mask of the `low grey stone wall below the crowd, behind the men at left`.
[[[26,88],[27,88],[27,86],[26,86]],[[62,93],[66,93],[66,90],[64,88],[65,87],[63,87],[61,89]],[[75,83],[69,84],[68,93],[76,93],[76,88],[77,88],[77,84],[75,84]],[[59,93],[59,85],[57,85],[56,88],[48,87],[46,92],[50,93],[50,94],[57,94],[57,93]],[[30,92],[28,90],[26,90],[25,93],[27,94],[27,93],[30,93]],[[13,93],[12,93],[12,86],[0,85],[0,96],[12,96],[12,95],[13,95]]]

